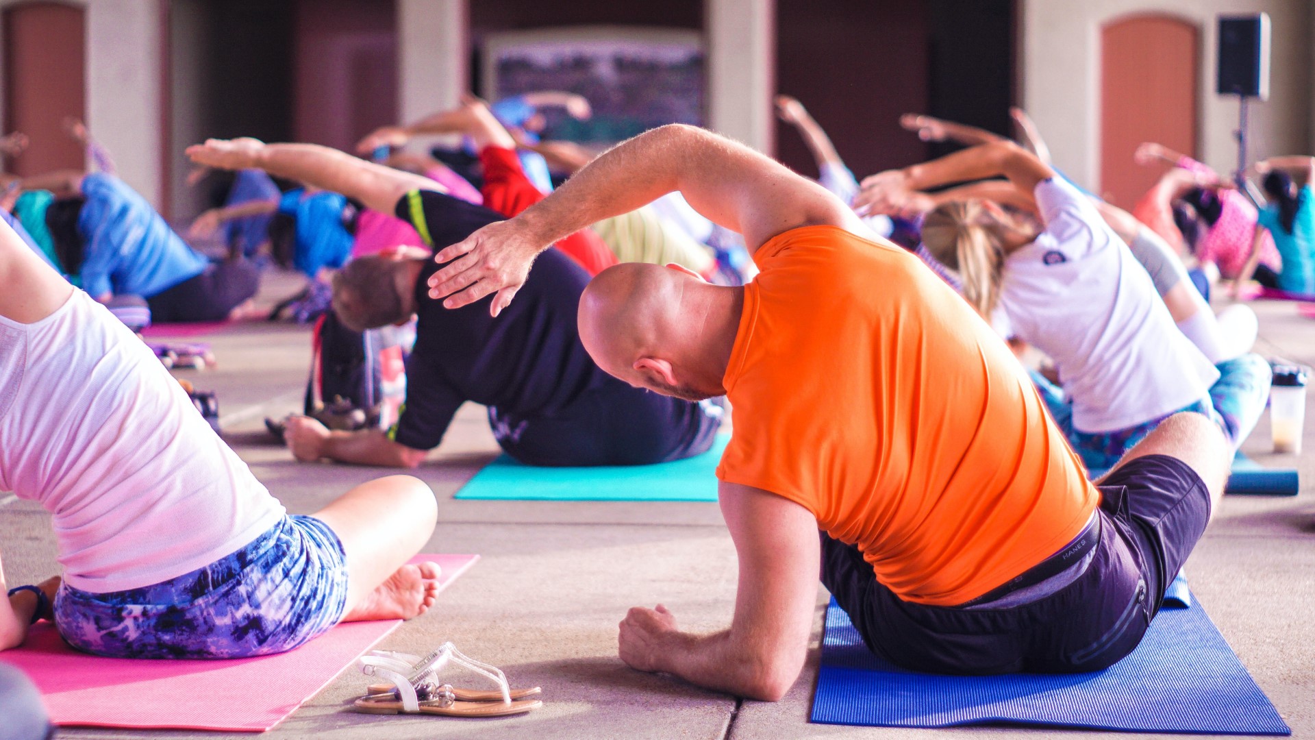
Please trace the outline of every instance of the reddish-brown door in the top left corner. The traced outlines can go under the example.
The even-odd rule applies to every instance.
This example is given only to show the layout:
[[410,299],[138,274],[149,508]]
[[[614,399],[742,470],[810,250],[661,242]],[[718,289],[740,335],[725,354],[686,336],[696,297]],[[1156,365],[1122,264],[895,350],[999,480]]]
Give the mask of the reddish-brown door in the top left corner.
[[62,125],[66,116],[85,119],[84,17],[83,8],[63,3],[3,9],[4,130],[30,140],[28,150],[8,162],[14,174],[85,166],[82,146]]

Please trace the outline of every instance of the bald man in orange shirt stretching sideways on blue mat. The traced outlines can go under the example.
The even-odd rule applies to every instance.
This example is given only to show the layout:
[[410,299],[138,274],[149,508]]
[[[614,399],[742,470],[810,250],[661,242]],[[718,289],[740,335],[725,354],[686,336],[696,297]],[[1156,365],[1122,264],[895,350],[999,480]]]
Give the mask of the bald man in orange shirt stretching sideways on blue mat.
[[[1035,158],[986,165],[1053,176]],[[1173,416],[1089,483],[973,309],[777,162],[702,129],[651,130],[442,250],[455,261],[430,295],[493,295],[497,315],[554,240],[676,190],[744,234],[759,277],[719,287],[619,265],[585,291],[580,336],[636,387],[729,396],[717,475],[739,591],[714,635],[681,632],[660,604],[630,610],[622,660],[778,699],[803,665],[819,570],[868,647],[910,669],[1085,672],[1131,652],[1222,492],[1218,428]]]

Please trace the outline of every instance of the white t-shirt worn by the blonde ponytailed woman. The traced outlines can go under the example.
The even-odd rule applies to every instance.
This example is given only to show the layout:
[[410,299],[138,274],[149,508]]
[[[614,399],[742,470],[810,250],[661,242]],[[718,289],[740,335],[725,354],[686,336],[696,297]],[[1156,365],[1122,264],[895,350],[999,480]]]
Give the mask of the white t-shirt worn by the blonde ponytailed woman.
[[1001,307],[1055,361],[1073,427],[1114,432],[1205,399],[1219,371],[1095,207],[1060,178],[1036,186],[1036,204],[1045,230],[1005,261]]

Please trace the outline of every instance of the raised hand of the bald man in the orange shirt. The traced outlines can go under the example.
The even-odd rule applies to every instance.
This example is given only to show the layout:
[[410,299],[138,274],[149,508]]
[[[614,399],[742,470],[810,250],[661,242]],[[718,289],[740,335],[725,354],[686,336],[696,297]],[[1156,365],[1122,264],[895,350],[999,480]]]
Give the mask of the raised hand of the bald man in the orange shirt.
[[497,316],[525,284],[543,248],[519,219],[489,224],[434,255],[434,262],[448,265],[430,275],[429,296],[446,299],[444,308],[460,308],[493,295],[489,313]]

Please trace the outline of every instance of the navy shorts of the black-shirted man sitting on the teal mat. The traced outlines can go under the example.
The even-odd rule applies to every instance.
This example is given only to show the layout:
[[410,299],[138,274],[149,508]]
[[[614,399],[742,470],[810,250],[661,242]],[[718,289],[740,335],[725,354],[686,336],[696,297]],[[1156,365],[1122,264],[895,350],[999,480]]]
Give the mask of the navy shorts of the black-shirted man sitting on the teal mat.
[[514,416],[489,407],[498,445],[539,466],[651,465],[713,446],[721,399],[688,402],[608,378],[554,415]]

